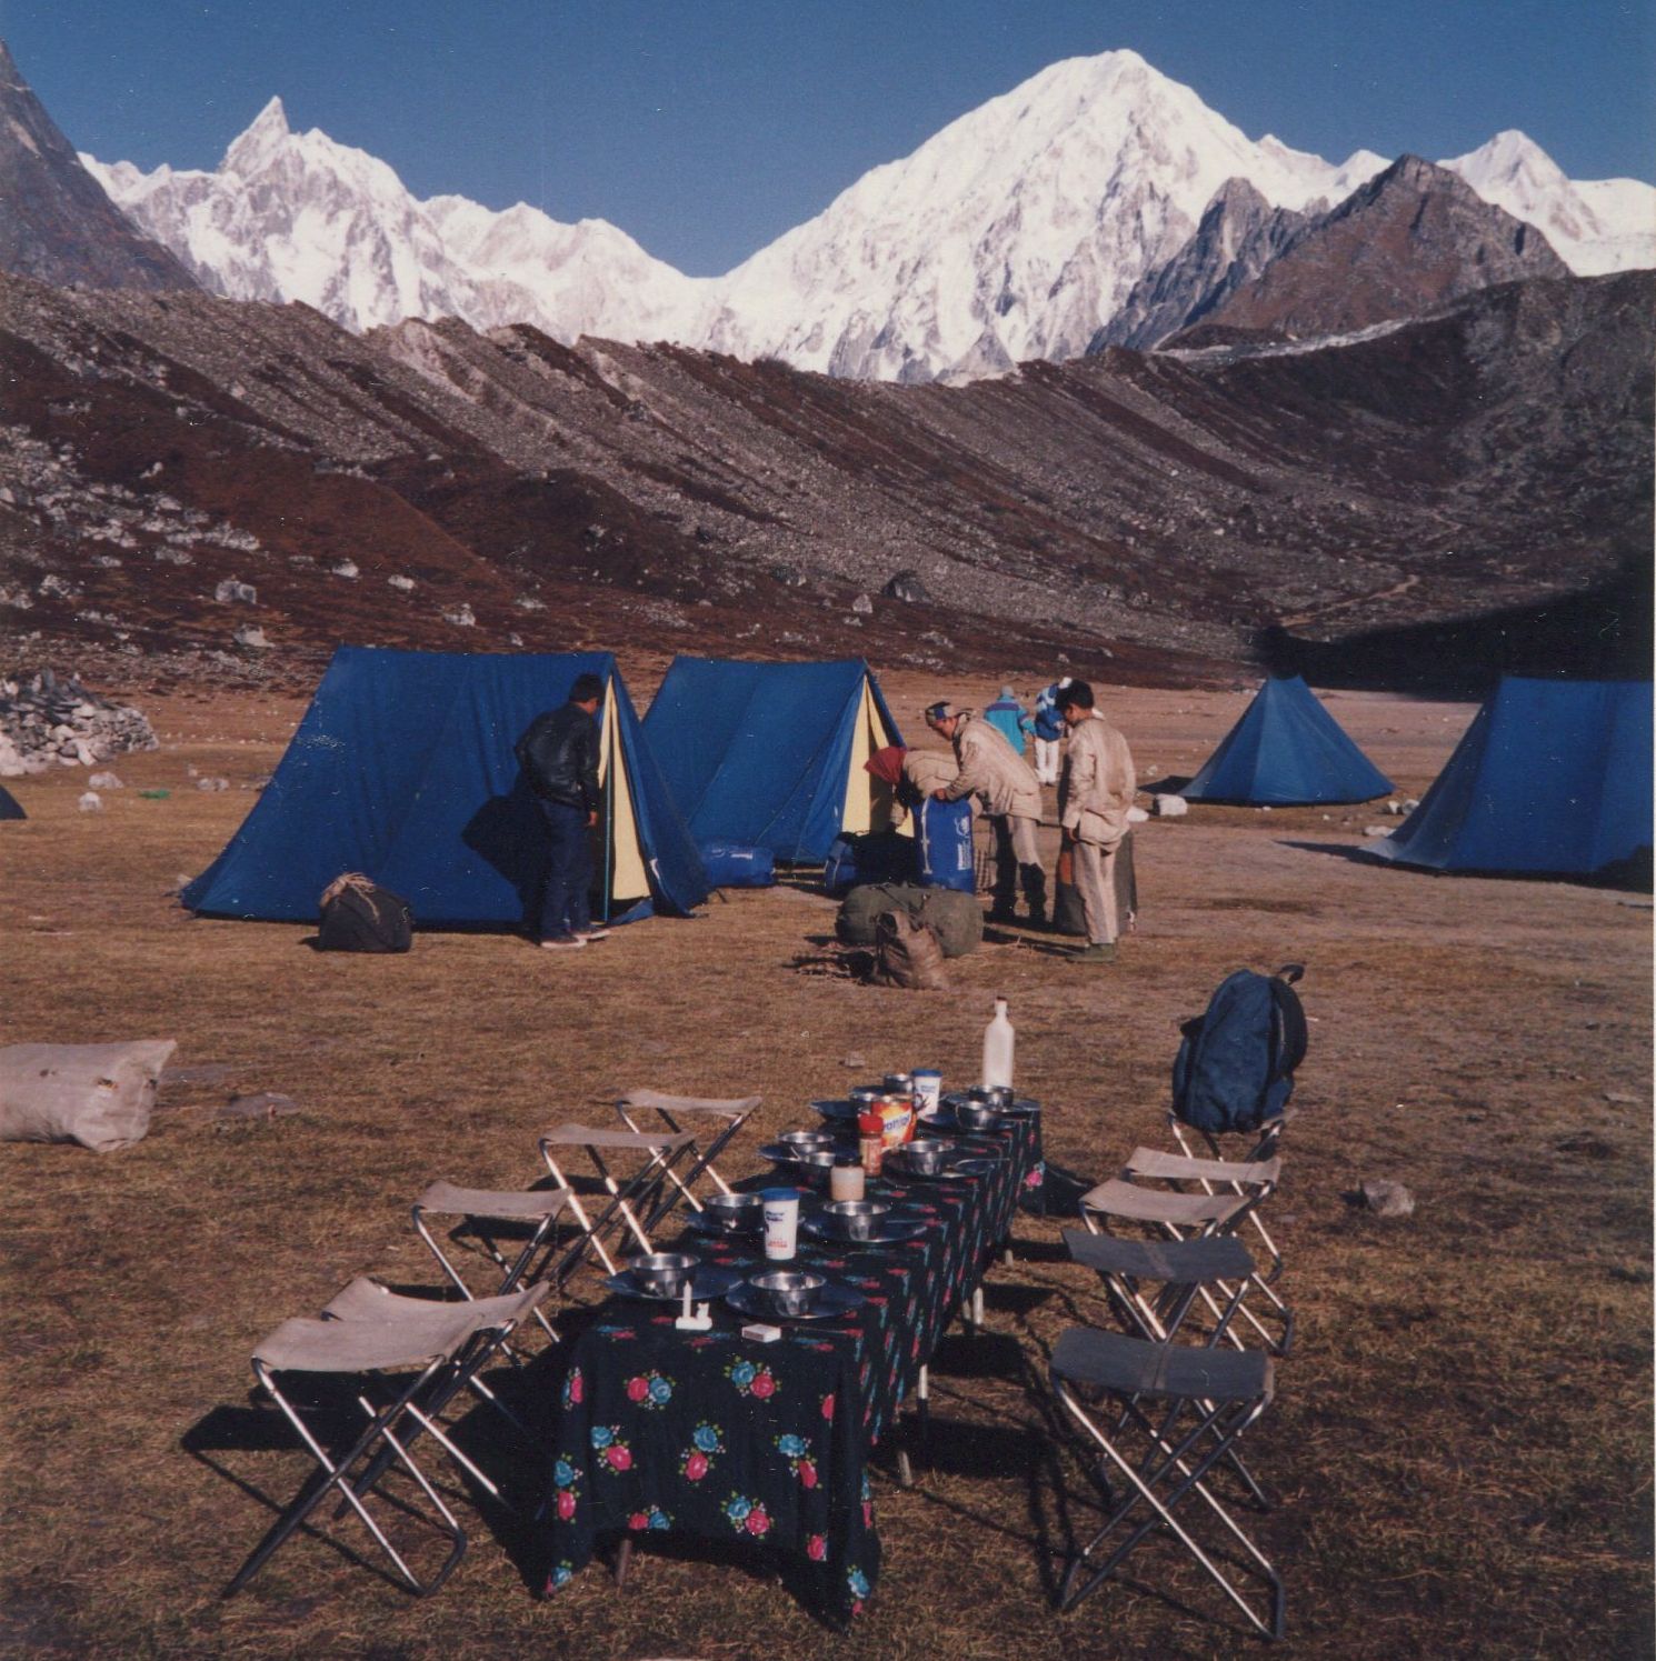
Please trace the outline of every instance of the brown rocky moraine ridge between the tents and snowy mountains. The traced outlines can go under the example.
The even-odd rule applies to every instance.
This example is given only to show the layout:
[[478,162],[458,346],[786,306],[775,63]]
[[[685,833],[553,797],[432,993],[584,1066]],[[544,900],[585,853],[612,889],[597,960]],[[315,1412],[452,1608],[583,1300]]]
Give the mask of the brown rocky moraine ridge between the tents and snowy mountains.
[[1276,625],[1536,605],[1648,551],[1653,281],[950,389],[7,277],[0,636],[133,673],[352,639],[1176,678]]

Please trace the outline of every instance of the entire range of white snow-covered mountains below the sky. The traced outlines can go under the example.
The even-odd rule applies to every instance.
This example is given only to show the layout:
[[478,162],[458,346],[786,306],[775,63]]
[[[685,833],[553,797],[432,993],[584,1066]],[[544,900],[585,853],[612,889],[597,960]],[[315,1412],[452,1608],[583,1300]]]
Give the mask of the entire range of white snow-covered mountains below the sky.
[[[81,156],[141,231],[214,292],[304,301],[349,329],[530,322],[782,357],[835,375],[967,380],[1085,352],[1232,181],[1322,211],[1379,174],[1249,140],[1138,53],[1055,63],[874,168],[723,277],[688,277],[601,219],[414,198],[281,100],[213,173]],[[1521,133],[1443,166],[1538,226],[1576,272],[1656,264],[1656,188],[1575,183]]]

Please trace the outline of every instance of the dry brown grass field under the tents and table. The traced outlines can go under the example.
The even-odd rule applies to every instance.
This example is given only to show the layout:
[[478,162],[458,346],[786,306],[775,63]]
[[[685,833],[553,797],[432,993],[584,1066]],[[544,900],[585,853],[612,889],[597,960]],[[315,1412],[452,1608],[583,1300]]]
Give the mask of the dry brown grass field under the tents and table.
[[[889,691],[919,731],[938,688]],[[1143,777],[1191,772],[1244,703],[1106,691]],[[198,792],[186,767],[233,786],[267,772],[299,708],[151,703],[164,747],[116,764],[128,789],[106,812],[76,812],[83,776],[65,772],[22,781],[32,817],[0,826],[0,1040],[174,1036],[174,1065],[198,1070],[164,1085],[125,1153],[0,1153],[7,1653],[1244,1651],[1154,1545],[1131,1581],[1053,1613],[1055,1480],[1073,1487],[1075,1463],[1048,1435],[1043,1357],[1098,1314],[1056,1218],[1018,1224],[1017,1262],[990,1276],[992,1330],[938,1355],[933,1468],[904,1490],[882,1455],[885,1570],[849,1638],[764,1575],[693,1556],[641,1556],[625,1593],[595,1565],[540,1603],[485,1526],[429,1601],[317,1540],[221,1601],[269,1521],[259,1497],[286,1502],[306,1467],[279,1445],[216,1448],[211,1430],[246,1409],[249,1345],[281,1317],[360,1271],[432,1282],[407,1213],[430,1178],[522,1184],[541,1128],[626,1086],[762,1091],[777,1131],[887,1065],[968,1080],[1005,992],[1048,1159],[1101,1178],[1164,1138],[1176,1023],[1231,968],[1289,958],[1309,965],[1312,1038],[1274,1227],[1299,1342],[1251,1453],[1281,1495],[1261,1535],[1287,1576],[1287,1651],[1649,1653],[1646,897],[1375,867],[1352,857],[1374,809],[1208,809],[1141,829],[1141,927],[1108,968],[1018,933],[952,963],[952,993],[860,987],[799,967],[834,907],[791,887],[581,958],[453,933],[405,958],[326,957],[307,928],[194,920],[168,897],[254,801]],[[1472,714],[1367,694],[1330,709],[1413,794]],[[140,799],[156,786],[171,797]],[[233,1091],[259,1090],[302,1111],[216,1123]],[[1382,1176],[1413,1191],[1412,1218],[1352,1204]]]

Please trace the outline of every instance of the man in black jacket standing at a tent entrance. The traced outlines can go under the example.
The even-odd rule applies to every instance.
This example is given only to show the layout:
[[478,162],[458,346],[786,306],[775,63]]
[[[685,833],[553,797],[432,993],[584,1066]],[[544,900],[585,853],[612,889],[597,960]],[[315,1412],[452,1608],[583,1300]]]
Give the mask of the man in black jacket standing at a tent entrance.
[[598,824],[598,706],[603,681],[578,674],[561,709],[536,716],[513,746],[546,821],[546,887],[540,902],[540,943],[566,952],[601,940],[586,892],[593,880],[588,832]]

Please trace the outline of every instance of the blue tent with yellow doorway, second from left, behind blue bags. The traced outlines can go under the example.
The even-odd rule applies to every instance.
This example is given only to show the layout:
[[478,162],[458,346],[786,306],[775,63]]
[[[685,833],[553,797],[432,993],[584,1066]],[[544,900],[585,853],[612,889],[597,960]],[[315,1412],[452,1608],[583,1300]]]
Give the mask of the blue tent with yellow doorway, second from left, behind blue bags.
[[842,830],[889,824],[890,791],[862,764],[902,737],[860,658],[674,658],[644,733],[698,842],[817,864]]

